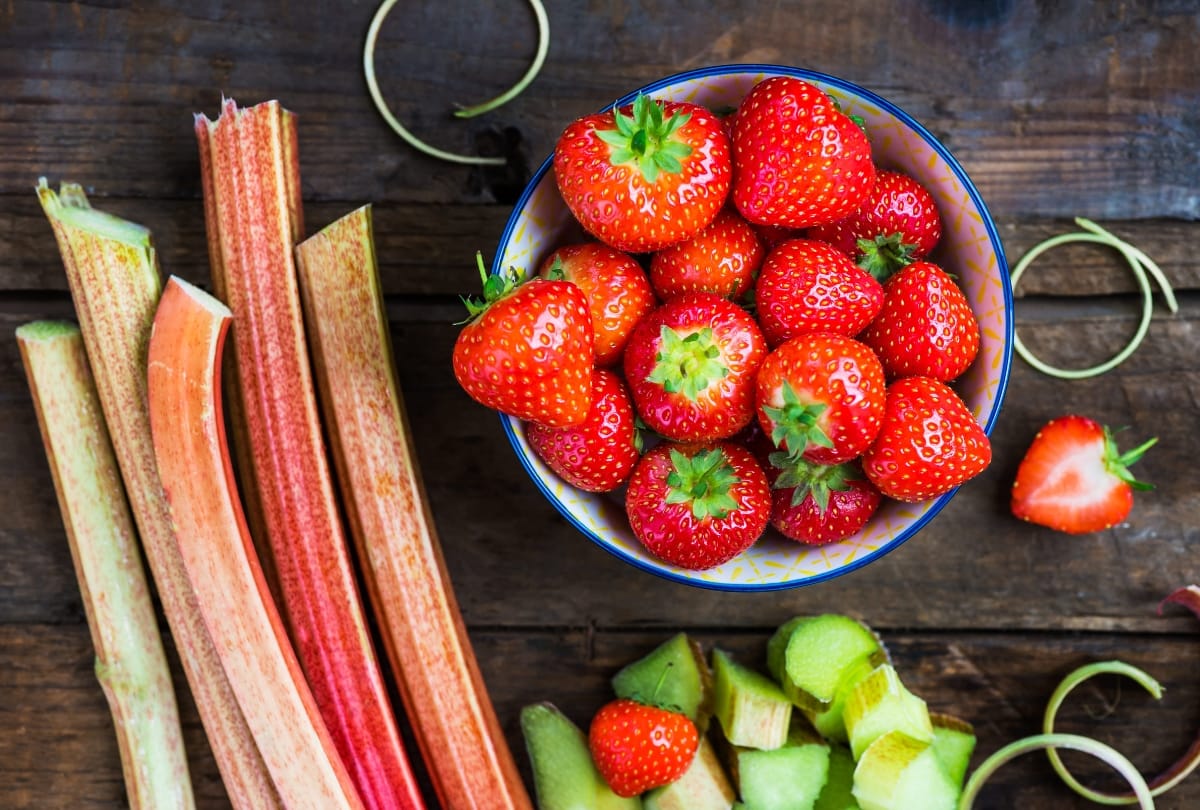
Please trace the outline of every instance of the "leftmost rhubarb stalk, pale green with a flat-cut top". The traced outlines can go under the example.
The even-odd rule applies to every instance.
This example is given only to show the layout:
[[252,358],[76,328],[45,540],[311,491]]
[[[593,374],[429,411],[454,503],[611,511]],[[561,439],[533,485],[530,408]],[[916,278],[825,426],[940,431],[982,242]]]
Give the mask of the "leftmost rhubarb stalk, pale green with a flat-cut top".
[[96,678],[113,713],[130,806],[194,808],[167,655],[79,328],[34,322],[17,329],[17,343],[88,614]]

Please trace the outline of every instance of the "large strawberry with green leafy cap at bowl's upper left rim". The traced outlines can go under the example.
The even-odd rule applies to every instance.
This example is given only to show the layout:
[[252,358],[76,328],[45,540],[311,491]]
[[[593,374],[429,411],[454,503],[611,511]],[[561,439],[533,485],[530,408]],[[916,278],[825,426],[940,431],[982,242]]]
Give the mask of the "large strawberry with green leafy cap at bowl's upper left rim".
[[725,205],[731,172],[720,119],[698,104],[647,96],[574,121],[554,146],[554,179],[571,214],[629,253],[700,233]]

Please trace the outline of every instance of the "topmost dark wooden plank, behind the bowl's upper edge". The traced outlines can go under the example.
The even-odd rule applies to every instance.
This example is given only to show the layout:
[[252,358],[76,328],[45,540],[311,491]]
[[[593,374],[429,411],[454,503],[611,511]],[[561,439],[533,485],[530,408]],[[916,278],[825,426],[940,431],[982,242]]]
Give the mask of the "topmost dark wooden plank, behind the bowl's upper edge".
[[[660,4],[559,0],[548,4],[553,47],[542,73],[512,103],[470,121],[449,115],[452,102],[506,89],[532,58],[528,10],[452,0],[397,14],[377,60],[389,102],[444,149],[512,152],[500,172],[427,158],[386,128],[360,68],[374,7],[298,14],[253,0],[236,10],[202,4],[185,18],[163,5],[10,5],[0,12],[8,100],[0,150],[14,160],[0,167],[0,192],[48,173],[115,196],[194,199],[192,114],[215,114],[226,94],[244,103],[278,97],[301,115],[308,197],[511,202],[569,120],[641,84],[712,64],[803,61],[908,110],[1002,220],[1200,215],[1198,12],[1187,4],[1015,0],[980,13],[905,2],[889,8],[894,24],[880,25],[838,0],[803,13],[730,2],[680,25]],[[31,42],[47,46],[37,59]]]

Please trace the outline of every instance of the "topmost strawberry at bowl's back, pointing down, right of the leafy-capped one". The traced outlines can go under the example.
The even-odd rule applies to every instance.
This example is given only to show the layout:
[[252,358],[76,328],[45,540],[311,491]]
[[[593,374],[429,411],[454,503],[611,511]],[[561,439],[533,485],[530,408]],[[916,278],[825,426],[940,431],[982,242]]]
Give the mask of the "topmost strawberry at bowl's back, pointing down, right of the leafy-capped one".
[[875,182],[871,144],[818,88],[756,84],[733,125],[733,202],[750,222],[809,228],[850,215]]

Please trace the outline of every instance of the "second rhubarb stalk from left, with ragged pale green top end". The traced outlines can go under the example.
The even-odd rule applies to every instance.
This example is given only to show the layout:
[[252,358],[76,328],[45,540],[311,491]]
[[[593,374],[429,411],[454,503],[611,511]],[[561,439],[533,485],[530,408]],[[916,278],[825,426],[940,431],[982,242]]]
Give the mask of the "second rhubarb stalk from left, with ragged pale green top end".
[[150,232],[92,209],[76,184],[55,193],[43,179],[37,194],[62,256],[143,551],[226,791],[239,810],[278,806],[200,618],[155,466],[145,360],[162,280]]

